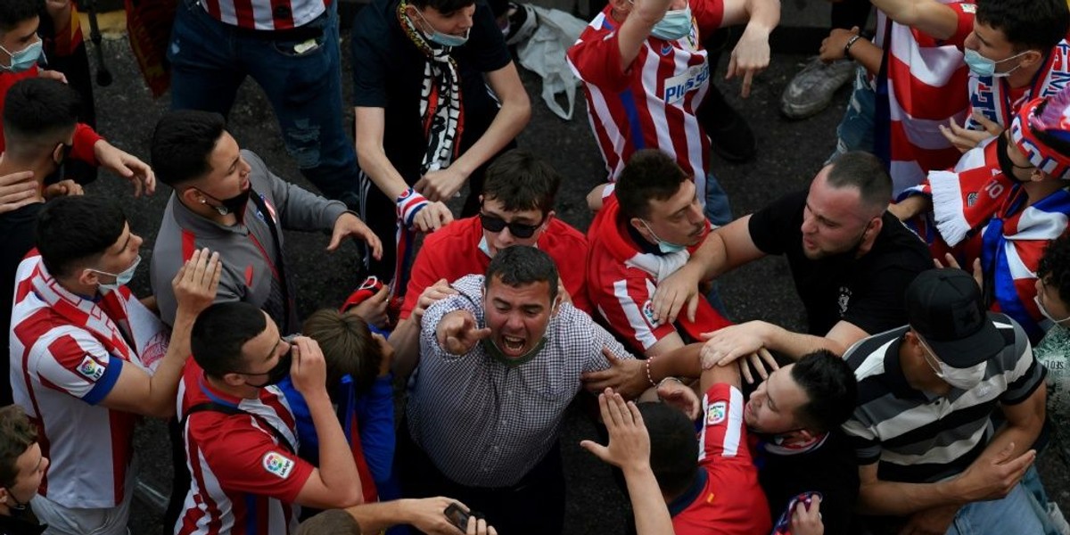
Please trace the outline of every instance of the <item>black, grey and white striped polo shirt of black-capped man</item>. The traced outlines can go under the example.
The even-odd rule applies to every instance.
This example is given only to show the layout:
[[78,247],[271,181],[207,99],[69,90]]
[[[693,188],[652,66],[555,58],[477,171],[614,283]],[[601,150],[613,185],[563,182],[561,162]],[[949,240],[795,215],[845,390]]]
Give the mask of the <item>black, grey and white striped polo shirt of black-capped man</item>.
[[907,383],[900,365],[906,326],[866,338],[844,354],[858,379],[858,402],[843,430],[859,464],[880,461],[882,480],[933,483],[959,474],[981,454],[994,432],[996,404],[1025,401],[1044,379],[1022,327],[1002,314],[989,312],[989,321],[1004,347],[969,391],[936,396]]

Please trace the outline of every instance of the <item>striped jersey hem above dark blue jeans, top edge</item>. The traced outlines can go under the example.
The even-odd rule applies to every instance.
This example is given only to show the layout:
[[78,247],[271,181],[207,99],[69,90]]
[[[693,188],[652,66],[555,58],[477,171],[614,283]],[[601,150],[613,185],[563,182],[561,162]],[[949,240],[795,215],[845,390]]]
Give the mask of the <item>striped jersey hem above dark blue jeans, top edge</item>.
[[247,30],[289,30],[322,15],[331,0],[201,0],[212,18]]

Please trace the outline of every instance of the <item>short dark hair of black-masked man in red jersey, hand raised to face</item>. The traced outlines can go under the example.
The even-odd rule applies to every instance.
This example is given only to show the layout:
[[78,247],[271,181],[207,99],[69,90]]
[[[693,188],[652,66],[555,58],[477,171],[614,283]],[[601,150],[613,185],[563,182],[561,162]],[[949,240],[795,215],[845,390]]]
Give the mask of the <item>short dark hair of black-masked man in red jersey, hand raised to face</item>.
[[216,379],[245,369],[242,346],[268,328],[268,318],[241,301],[214,303],[197,316],[189,334],[194,361]]

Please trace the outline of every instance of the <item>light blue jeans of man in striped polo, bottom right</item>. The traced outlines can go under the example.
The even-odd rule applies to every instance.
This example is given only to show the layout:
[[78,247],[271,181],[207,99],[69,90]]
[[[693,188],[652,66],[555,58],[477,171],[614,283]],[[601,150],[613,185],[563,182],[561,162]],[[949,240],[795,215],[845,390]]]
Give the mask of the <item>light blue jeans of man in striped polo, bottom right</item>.
[[1045,533],[1029,493],[1022,484],[1015,485],[1014,490],[1003,500],[973,502],[962,506],[951,526],[947,529],[947,535],[1009,533]]

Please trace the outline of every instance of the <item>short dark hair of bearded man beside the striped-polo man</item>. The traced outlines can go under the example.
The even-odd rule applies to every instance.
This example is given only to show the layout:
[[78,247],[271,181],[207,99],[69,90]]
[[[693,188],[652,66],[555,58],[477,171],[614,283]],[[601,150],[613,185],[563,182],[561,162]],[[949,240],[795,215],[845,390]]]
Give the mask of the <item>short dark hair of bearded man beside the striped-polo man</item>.
[[858,400],[858,382],[846,361],[822,349],[799,358],[791,373],[809,399],[795,410],[795,417],[807,429],[831,431],[851,417]]

